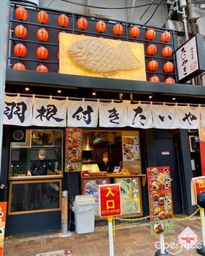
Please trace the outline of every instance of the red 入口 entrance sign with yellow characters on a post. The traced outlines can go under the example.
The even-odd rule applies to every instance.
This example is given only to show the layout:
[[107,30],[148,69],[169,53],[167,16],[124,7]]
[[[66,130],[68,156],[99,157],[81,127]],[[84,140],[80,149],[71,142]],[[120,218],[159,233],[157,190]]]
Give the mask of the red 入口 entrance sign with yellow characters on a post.
[[99,213],[100,217],[122,214],[119,184],[99,185]]

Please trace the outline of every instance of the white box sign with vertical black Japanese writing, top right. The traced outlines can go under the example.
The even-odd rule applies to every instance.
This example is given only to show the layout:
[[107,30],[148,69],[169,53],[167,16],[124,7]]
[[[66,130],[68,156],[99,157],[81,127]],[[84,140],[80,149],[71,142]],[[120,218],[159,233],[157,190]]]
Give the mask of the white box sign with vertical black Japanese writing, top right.
[[182,83],[205,71],[204,37],[196,34],[176,50],[178,80]]

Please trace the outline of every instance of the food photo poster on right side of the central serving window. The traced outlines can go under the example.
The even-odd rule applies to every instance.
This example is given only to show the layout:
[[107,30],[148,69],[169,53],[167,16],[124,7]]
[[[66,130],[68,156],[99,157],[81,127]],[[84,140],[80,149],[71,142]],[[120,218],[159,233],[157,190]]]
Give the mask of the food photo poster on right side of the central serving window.
[[140,159],[138,136],[122,136],[122,161]]

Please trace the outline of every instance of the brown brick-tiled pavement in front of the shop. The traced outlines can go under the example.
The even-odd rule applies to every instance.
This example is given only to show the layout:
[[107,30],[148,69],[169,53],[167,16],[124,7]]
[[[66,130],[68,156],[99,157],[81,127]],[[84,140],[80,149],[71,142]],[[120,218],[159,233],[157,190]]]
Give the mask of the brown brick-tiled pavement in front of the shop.
[[[181,232],[190,227],[202,241],[201,221],[195,216],[185,221],[175,221],[175,232],[165,234],[165,243],[177,243],[177,237]],[[93,233],[76,234],[71,237],[60,238],[58,233],[45,235],[24,235],[23,237],[6,237],[4,240],[4,256],[36,255],[41,252],[53,252],[57,250],[74,248],[78,256],[106,256],[109,255],[109,233],[106,222],[96,226]],[[159,235],[150,235],[149,221],[135,221],[132,224],[117,224],[116,237],[114,238],[114,255],[155,255],[158,250],[155,242],[159,241]],[[175,255],[199,255],[196,249],[186,250],[181,247],[169,252]],[[177,252],[179,252],[177,254]]]

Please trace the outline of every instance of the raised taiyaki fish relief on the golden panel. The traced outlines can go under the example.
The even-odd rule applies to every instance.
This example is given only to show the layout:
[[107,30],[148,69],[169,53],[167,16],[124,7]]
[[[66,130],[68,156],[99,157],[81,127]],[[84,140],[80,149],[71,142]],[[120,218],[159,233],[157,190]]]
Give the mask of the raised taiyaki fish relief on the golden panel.
[[111,76],[120,70],[137,69],[142,63],[134,56],[126,42],[117,48],[98,38],[78,40],[68,49],[68,56],[81,68]]

